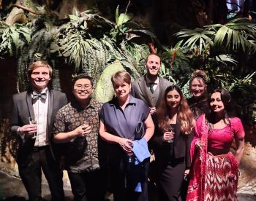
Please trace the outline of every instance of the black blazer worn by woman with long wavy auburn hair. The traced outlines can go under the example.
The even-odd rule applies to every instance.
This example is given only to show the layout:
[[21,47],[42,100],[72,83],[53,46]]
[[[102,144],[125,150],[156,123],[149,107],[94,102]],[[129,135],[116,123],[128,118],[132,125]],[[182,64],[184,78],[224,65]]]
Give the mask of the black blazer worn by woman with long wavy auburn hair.
[[[159,129],[157,121],[155,122],[155,131],[153,138],[151,139],[151,148],[154,151],[156,161],[160,163],[165,163],[170,161],[170,143],[167,143],[162,140],[162,136],[164,133]],[[174,148],[173,148],[173,156],[175,159],[179,159],[184,157],[186,168],[189,169],[191,166],[190,161],[190,144],[192,142],[193,135],[185,135],[181,133],[181,123],[176,123],[176,130],[175,130],[175,139],[174,139]]]

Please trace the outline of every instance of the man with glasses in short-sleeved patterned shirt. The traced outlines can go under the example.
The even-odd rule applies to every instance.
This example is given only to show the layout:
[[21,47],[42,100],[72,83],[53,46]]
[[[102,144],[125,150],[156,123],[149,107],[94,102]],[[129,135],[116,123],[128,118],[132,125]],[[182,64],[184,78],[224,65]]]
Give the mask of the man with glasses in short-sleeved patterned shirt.
[[94,91],[90,76],[80,74],[73,79],[73,100],[56,115],[53,141],[66,143],[65,169],[74,200],[102,200],[102,172],[99,170],[99,110],[102,103],[91,98]]

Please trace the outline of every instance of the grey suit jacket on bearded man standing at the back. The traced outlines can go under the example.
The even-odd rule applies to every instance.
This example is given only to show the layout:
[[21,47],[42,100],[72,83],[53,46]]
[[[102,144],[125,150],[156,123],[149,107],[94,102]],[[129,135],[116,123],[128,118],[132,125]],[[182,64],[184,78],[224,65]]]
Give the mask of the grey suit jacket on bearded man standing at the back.
[[148,104],[149,107],[157,108],[162,100],[162,97],[165,94],[166,88],[171,85],[171,82],[159,76],[159,84],[157,86],[159,87],[159,95],[158,97],[155,97],[154,94],[152,95],[151,91],[146,85],[146,77],[141,76],[134,82],[132,82],[131,94],[133,97],[139,98],[140,100],[144,101],[146,104]]

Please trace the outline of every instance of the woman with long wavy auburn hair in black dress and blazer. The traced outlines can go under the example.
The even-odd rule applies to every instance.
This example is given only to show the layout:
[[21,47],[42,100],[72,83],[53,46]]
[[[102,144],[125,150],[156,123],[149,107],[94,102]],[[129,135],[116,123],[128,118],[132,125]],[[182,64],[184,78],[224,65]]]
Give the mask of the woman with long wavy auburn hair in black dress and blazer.
[[181,200],[181,186],[189,173],[189,149],[195,119],[177,86],[167,87],[157,109],[152,140],[157,165],[159,200]]

